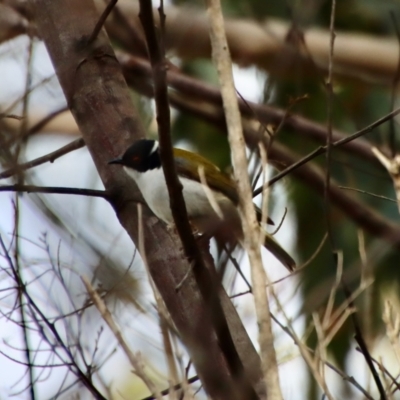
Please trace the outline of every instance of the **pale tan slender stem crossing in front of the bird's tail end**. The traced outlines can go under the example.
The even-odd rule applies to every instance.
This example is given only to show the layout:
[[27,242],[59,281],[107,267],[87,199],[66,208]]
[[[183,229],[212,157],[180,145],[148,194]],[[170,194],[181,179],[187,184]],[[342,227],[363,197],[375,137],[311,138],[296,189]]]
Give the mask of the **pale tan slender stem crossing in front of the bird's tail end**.
[[262,265],[260,250],[260,227],[256,218],[251,185],[247,173],[247,157],[242,131],[242,122],[232,76],[232,62],[224,30],[224,19],[219,0],[207,0],[207,13],[210,20],[212,58],[217,67],[225,119],[228,128],[229,144],[236,184],[239,193],[239,205],[245,236],[245,248],[249,254],[253,283],[254,301],[259,324],[259,343],[264,383],[271,399],[282,399],[279,386],[279,374],[273,343],[269,304],[265,293],[266,275]]

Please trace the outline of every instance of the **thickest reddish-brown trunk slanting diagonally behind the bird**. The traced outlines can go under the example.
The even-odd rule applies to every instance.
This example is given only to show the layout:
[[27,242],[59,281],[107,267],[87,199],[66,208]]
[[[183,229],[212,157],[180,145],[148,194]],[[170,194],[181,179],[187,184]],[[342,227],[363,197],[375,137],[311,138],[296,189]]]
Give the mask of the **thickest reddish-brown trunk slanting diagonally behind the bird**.
[[[134,140],[144,137],[144,129],[103,30],[91,46],[78,46],[90,36],[98,21],[94,5],[85,1],[83,6],[82,0],[33,0],[30,4],[72,114],[102,182],[112,195],[117,217],[132,240],[139,243],[137,207],[132,199],[140,194],[132,180],[120,168],[109,166],[108,161],[122,154]],[[191,267],[180,241],[145,207],[143,239],[152,279],[206,390],[231,379],[193,274],[189,274],[178,292],[175,290]],[[205,250],[203,257],[211,259]],[[207,265],[212,265],[212,259]],[[226,292],[221,288],[219,294],[246,371],[251,371],[250,378],[258,382],[258,354]],[[221,398],[214,392],[210,396]]]

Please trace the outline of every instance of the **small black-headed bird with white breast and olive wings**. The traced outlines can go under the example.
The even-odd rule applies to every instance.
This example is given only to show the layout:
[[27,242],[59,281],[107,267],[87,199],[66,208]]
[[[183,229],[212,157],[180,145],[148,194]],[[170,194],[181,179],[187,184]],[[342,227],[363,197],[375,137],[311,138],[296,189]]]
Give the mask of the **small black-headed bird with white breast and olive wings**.
[[[191,225],[199,232],[215,236],[217,240],[240,241],[243,231],[234,181],[196,153],[174,149],[174,158]],[[156,140],[136,141],[121,158],[111,160],[109,164],[122,165],[136,182],[151,211],[167,225],[174,223]],[[261,220],[261,211],[254,207]],[[270,220],[268,222],[272,223]],[[292,257],[268,233],[264,247],[289,271],[294,270],[296,263]]]

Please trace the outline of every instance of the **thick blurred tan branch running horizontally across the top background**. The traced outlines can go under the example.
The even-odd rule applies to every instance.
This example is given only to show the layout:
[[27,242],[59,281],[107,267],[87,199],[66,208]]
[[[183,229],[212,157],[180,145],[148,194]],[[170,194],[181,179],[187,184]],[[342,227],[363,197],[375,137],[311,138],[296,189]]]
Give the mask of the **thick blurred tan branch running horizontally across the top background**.
[[[24,8],[25,2],[17,2],[17,5],[15,10],[19,11],[18,8]],[[96,5],[101,10],[99,12],[102,12],[104,2],[96,0]],[[130,25],[137,28],[139,23],[136,2],[120,0],[118,7]],[[27,14],[29,13],[28,11]],[[169,6],[167,14],[168,50],[183,59],[209,58],[208,24],[203,10]],[[132,48],[126,33],[118,24],[120,24],[120,19],[108,18],[107,31],[113,40],[124,43],[127,48]],[[17,28],[16,32],[11,32],[10,37],[26,33],[31,27],[23,21],[22,24],[17,24]],[[305,52],[304,48],[296,49],[286,40],[290,29],[290,22],[273,18],[268,18],[261,23],[249,19],[228,19],[226,31],[234,62],[246,66],[256,65],[271,75],[282,76],[285,69],[281,68],[281,63],[276,62],[279,57],[286,64],[291,63],[299,70],[314,74],[314,68],[307,68],[310,66],[309,55],[311,55],[318,68],[327,71],[329,31],[319,28],[307,29],[304,32],[305,46],[303,47],[306,47],[308,51]],[[338,32],[335,77],[391,86],[397,67],[397,50],[396,40],[391,36],[382,38],[363,33]],[[311,76],[312,79],[314,77],[314,75]]]

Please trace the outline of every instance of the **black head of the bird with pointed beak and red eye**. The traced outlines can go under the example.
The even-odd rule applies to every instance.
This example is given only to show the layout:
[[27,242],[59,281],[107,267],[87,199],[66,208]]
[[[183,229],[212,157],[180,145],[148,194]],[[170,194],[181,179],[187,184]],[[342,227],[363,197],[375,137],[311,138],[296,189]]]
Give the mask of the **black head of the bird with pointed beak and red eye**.
[[139,172],[160,168],[158,142],[151,139],[140,139],[128,147],[121,158],[111,160],[109,164],[121,164]]

